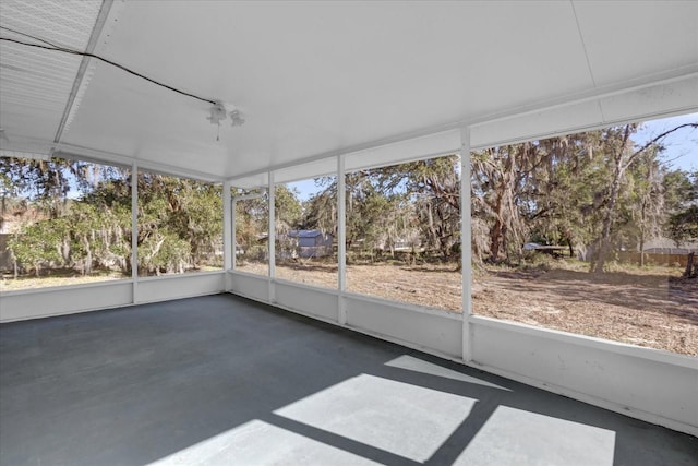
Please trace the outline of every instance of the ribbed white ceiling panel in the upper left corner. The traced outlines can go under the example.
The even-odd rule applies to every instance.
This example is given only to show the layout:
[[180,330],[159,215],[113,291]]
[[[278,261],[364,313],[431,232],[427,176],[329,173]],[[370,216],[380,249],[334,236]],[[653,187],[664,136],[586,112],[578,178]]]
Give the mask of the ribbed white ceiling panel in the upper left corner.
[[[98,0],[3,0],[0,34],[32,44],[84,50],[100,7]],[[81,60],[0,41],[0,127],[7,136],[0,141],[2,148],[51,150]]]

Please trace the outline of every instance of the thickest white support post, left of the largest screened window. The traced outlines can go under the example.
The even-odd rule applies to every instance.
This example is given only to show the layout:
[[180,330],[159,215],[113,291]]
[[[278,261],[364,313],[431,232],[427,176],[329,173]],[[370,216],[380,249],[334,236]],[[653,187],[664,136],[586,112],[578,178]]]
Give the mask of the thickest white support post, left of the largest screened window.
[[472,360],[472,227],[470,210],[470,127],[460,130],[460,260],[462,280],[462,361]]

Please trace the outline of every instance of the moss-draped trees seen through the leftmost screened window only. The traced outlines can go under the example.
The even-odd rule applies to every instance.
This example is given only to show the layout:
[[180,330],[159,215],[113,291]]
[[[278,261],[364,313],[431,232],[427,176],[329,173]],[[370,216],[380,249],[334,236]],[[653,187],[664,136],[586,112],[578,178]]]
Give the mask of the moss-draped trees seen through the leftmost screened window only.
[[[113,251],[122,249],[122,254],[130,253],[130,242],[129,250],[123,250],[120,237],[110,235],[115,229],[122,231],[120,225],[115,225],[121,218],[125,218],[130,231],[130,188],[128,199],[121,196],[123,201],[117,200],[119,196],[100,195],[100,192],[112,190],[128,179],[128,170],[60,158],[5,157],[0,159],[0,169],[3,194],[14,196],[10,203],[15,205],[19,218],[24,219],[20,235],[10,244],[17,265],[32,267],[37,273],[40,266],[80,265],[83,273],[89,273],[94,263],[109,262],[105,258],[107,252],[113,254]],[[7,201],[3,203],[5,207]],[[121,208],[121,203],[128,206],[128,213]],[[119,215],[113,215],[112,210],[119,211]],[[33,238],[38,230],[44,231],[44,241],[50,239],[53,244],[49,249],[51,252],[45,252],[44,259],[37,263],[36,254],[29,254],[27,246],[38,247],[36,238]],[[111,249],[116,246],[111,241],[118,241],[119,248]],[[119,265],[124,267],[127,264],[121,261]]]

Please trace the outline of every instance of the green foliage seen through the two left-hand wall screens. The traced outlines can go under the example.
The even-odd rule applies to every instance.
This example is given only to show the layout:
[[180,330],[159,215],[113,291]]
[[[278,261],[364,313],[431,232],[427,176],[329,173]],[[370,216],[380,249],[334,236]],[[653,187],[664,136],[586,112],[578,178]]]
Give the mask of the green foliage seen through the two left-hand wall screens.
[[[219,186],[141,172],[139,265],[144,274],[220,266]],[[2,218],[22,218],[9,243],[19,268],[131,272],[129,170],[63,160],[0,159]],[[76,195],[77,194],[77,195]],[[11,196],[8,202],[5,198]]]

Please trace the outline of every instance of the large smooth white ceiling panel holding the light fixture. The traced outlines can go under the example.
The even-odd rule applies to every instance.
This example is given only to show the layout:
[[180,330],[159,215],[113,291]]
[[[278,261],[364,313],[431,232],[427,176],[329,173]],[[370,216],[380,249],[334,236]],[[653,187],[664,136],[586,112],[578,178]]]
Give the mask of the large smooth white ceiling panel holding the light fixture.
[[64,142],[225,177],[591,83],[568,3],[127,2],[100,52],[246,123],[100,64]]

